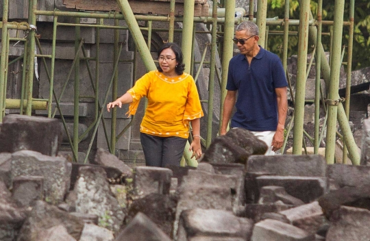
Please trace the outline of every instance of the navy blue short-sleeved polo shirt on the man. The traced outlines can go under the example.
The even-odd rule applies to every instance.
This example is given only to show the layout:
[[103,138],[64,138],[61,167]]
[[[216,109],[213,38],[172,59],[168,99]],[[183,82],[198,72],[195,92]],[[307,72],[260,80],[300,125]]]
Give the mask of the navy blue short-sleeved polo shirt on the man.
[[275,88],[288,86],[279,56],[262,47],[248,63],[245,55],[230,60],[227,90],[237,90],[236,112],[231,126],[249,131],[275,131],[277,99]]

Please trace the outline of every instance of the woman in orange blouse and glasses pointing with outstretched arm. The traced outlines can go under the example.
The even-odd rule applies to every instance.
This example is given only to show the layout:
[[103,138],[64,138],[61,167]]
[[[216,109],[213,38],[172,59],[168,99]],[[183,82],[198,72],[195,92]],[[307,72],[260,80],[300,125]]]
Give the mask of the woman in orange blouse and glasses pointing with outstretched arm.
[[140,125],[140,141],[147,166],[180,166],[193,128],[189,151],[197,159],[202,155],[200,118],[204,116],[193,77],[184,73],[184,56],[180,47],[169,42],[158,51],[158,70],[150,71],[123,96],[108,103],[107,109],[130,103],[127,114],[135,114],[139,101],[147,97],[148,105]]

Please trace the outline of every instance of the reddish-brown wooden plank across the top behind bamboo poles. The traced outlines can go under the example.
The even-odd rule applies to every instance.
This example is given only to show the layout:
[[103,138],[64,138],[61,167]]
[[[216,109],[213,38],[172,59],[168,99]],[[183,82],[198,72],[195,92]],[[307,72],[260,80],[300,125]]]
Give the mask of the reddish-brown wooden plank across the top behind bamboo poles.
[[[169,2],[164,1],[129,1],[132,12],[135,14],[158,14],[169,15],[170,5]],[[121,12],[116,0],[63,0],[66,8],[73,8],[77,10],[90,10],[90,11],[117,11]],[[203,5],[195,4],[194,16],[207,16],[204,14]],[[208,5],[208,4],[206,4]],[[184,4],[176,3],[175,15],[184,15]]]

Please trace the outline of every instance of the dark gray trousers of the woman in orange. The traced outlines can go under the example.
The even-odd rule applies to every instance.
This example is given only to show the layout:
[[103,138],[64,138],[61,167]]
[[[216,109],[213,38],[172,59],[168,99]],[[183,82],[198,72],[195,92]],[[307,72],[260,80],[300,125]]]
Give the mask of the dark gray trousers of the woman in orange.
[[187,139],[177,136],[151,136],[140,132],[140,142],[147,166],[180,166]]

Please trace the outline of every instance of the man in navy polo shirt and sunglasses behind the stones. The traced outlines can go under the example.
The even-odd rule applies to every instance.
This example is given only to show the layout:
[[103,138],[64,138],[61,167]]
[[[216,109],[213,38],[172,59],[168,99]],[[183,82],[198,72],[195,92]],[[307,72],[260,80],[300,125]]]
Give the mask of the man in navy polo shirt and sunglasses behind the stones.
[[286,76],[280,58],[258,45],[258,26],[245,21],[236,27],[234,42],[240,54],[230,60],[221,135],[226,134],[234,105],[232,128],[252,131],[274,155],[282,148],[288,101]]

